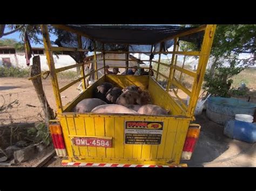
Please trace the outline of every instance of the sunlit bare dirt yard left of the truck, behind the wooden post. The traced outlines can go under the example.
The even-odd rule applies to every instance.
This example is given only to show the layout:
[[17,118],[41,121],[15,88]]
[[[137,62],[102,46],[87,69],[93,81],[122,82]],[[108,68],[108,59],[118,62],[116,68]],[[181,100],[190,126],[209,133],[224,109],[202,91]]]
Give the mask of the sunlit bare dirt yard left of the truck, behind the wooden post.
[[[66,84],[72,82],[74,79],[60,79],[59,87],[63,87]],[[79,95],[78,87],[79,83],[70,87],[68,90],[63,91],[61,96],[63,104],[67,104]],[[43,80],[44,92],[46,98],[56,111],[56,102],[53,95],[51,80],[48,78]],[[1,77],[0,79],[0,105],[9,104],[15,100],[18,100],[18,104],[13,105],[5,112],[0,114],[0,125],[9,123],[30,123],[43,121],[44,114],[42,112],[42,105],[40,104],[36,91],[30,80],[25,78],[14,77]]]

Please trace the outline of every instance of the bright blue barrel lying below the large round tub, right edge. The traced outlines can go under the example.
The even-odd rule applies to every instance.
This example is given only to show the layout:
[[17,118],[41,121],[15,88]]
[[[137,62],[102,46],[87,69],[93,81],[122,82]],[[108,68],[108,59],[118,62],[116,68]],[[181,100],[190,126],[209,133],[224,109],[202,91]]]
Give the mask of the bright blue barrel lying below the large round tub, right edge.
[[224,127],[224,135],[247,143],[256,142],[256,124],[230,120]]

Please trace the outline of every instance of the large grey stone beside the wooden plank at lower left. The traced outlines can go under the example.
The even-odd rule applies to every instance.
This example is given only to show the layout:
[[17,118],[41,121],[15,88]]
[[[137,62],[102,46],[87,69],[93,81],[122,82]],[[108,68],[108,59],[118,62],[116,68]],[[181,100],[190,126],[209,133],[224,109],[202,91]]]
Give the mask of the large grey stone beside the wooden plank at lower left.
[[28,146],[25,148],[22,148],[21,150],[14,152],[14,159],[15,162],[25,162],[33,157],[33,154],[35,154],[36,146]]

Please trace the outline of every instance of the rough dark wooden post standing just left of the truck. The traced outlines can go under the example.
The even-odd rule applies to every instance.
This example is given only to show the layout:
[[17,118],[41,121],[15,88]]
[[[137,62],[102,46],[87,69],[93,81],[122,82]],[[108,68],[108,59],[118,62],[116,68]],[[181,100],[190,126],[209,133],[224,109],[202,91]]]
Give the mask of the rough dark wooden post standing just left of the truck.
[[[41,74],[41,63],[40,63],[40,57],[34,56],[32,59],[32,66],[31,66],[31,74],[30,76],[35,76]],[[32,80],[33,86],[35,87],[37,96],[39,98],[39,101],[43,107],[44,116],[45,116],[45,124],[49,125],[49,120],[55,119],[55,114],[50,107],[48,101],[46,100],[44,90],[43,90],[43,84],[41,76],[37,77],[36,79]]]

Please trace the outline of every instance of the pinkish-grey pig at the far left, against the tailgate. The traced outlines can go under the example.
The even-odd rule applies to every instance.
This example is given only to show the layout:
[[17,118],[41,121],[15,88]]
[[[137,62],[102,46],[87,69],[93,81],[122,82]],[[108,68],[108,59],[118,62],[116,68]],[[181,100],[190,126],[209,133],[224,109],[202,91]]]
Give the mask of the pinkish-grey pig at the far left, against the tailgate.
[[86,98],[80,101],[73,109],[72,112],[85,113],[91,112],[91,110],[98,105],[105,105],[106,102],[98,99],[98,98]]

